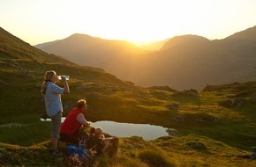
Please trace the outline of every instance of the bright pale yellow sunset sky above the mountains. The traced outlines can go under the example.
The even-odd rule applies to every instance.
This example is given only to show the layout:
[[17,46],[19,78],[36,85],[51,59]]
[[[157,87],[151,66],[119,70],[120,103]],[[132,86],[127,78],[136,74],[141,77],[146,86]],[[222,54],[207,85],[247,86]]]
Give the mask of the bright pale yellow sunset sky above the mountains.
[[36,45],[84,33],[137,45],[196,34],[224,39],[256,25],[256,0],[1,0],[0,26]]

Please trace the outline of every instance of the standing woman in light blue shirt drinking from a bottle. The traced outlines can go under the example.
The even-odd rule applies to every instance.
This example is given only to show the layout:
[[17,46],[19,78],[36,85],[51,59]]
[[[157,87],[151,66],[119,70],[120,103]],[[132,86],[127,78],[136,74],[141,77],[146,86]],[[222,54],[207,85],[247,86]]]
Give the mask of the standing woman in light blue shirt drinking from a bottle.
[[64,83],[64,88],[56,85],[56,72],[50,70],[45,73],[44,81],[41,84],[41,93],[44,97],[46,113],[51,119],[51,144],[53,147],[52,154],[54,156],[62,155],[62,152],[57,148],[57,142],[60,137],[61,116],[63,113],[61,95],[70,93],[70,88],[65,77],[61,76],[61,79]]

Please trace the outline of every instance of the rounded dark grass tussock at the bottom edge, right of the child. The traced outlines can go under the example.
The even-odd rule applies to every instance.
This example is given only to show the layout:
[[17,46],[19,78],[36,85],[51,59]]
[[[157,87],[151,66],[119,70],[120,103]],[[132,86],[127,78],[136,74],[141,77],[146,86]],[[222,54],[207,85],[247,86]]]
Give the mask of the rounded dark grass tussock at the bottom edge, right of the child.
[[167,160],[168,157],[162,154],[162,152],[153,149],[144,149],[139,152],[139,159],[146,162],[149,166],[162,166],[169,167],[174,166]]

